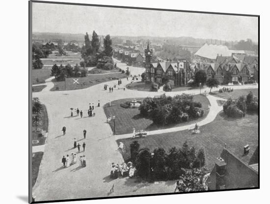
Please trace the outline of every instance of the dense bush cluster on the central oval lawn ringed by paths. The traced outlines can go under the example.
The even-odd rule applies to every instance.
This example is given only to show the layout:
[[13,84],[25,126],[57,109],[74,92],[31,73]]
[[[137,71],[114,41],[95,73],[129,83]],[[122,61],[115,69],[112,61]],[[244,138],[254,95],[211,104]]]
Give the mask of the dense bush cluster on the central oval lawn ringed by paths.
[[192,118],[202,117],[204,111],[199,102],[193,101],[189,94],[174,97],[161,95],[159,98],[145,98],[140,107],[140,114],[152,118],[158,125],[167,125],[188,121]]

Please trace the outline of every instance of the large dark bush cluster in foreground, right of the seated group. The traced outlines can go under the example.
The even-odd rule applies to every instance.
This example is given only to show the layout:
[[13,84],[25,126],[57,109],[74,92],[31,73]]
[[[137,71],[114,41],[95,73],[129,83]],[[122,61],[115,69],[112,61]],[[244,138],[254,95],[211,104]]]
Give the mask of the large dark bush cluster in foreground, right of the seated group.
[[154,180],[177,179],[183,174],[182,168],[202,168],[205,165],[204,149],[196,149],[185,142],[182,148],[172,147],[168,153],[163,148],[139,148],[137,141],[130,145],[130,160],[135,164],[137,175]]

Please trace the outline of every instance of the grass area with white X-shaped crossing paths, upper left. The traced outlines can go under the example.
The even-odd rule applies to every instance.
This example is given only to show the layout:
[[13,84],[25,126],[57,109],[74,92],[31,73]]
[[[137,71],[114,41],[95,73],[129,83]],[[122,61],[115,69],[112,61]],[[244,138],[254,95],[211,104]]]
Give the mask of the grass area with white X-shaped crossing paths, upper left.
[[[108,81],[112,81],[115,79],[125,78],[125,74],[113,73],[113,74],[105,74],[105,75],[88,75],[87,77],[79,77],[79,78],[67,78],[66,79],[66,90],[76,90],[82,88],[92,87],[94,85],[100,83],[106,83]],[[79,84],[75,83],[73,79],[78,80]],[[65,82],[57,82],[55,79],[53,80],[54,87],[51,90],[65,90]],[[57,88],[58,87],[58,88]]]

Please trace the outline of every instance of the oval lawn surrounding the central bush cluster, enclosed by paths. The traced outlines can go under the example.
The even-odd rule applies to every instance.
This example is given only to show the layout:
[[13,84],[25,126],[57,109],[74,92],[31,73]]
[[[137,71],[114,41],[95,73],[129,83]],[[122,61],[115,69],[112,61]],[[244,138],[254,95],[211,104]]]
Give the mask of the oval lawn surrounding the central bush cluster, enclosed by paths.
[[[143,98],[136,98],[137,100],[143,100]],[[111,102],[111,106],[108,106],[108,104],[105,104],[104,111],[106,116],[116,116],[115,117],[115,132],[117,135],[120,134],[127,134],[132,133],[133,128],[136,130],[158,130],[158,129],[165,129],[170,127],[176,127],[176,126],[183,126],[190,123],[194,123],[197,121],[200,121],[204,119],[208,113],[209,108],[208,105],[210,105],[209,100],[204,95],[194,95],[194,101],[201,102],[202,108],[204,109],[204,116],[197,118],[196,120],[189,120],[188,122],[178,123],[178,124],[170,124],[166,126],[157,126],[153,121],[149,118],[145,118],[140,115],[140,112],[136,108],[122,108],[120,106],[121,103],[133,100],[132,99],[121,99]],[[110,122],[110,127],[113,129],[113,122]]]

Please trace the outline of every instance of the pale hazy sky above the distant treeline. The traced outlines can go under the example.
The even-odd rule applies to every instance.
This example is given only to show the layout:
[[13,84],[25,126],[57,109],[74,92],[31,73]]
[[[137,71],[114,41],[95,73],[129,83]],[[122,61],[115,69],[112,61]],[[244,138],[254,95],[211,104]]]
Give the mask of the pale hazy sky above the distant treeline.
[[33,3],[33,32],[111,36],[189,36],[258,42],[258,18],[187,12]]

